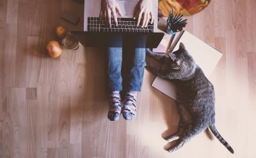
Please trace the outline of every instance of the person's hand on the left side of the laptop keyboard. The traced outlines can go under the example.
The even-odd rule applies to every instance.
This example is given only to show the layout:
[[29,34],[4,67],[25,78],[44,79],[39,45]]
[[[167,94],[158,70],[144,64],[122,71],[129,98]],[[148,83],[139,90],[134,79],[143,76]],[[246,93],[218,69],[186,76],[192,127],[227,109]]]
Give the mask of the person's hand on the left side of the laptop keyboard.
[[101,1],[100,18],[104,17],[105,22],[108,22],[109,27],[111,27],[111,15],[113,15],[115,24],[116,26],[118,26],[116,12],[118,12],[120,16],[123,15],[123,13],[120,10],[120,6],[116,2],[116,0]]

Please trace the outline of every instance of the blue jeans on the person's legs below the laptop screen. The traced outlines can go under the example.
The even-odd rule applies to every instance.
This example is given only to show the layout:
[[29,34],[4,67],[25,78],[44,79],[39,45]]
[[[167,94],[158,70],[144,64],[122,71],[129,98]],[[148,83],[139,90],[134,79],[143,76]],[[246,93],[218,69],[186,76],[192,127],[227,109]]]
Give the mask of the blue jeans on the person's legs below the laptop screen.
[[122,76],[124,82],[127,80],[125,88],[128,91],[141,91],[145,52],[145,48],[108,48],[108,86],[111,91],[122,91]]

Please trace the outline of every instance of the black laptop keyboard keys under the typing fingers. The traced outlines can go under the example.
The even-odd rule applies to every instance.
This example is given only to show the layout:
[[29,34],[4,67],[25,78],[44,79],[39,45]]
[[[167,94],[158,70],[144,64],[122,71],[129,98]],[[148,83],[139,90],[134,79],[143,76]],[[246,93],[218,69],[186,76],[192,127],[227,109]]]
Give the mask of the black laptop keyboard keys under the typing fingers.
[[118,26],[115,26],[115,21],[111,18],[111,28],[109,28],[104,19],[100,21],[99,17],[88,17],[88,31],[89,32],[113,32],[113,33],[152,33],[154,32],[154,23],[146,28],[137,27],[136,19],[132,18],[118,18]]

